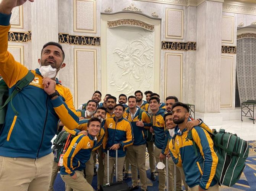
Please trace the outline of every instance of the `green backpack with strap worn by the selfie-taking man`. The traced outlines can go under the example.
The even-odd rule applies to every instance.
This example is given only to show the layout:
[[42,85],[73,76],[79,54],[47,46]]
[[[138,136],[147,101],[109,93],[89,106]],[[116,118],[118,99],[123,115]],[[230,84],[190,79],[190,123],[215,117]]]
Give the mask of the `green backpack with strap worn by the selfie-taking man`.
[[24,76],[21,80],[19,80],[15,84],[15,90],[9,95],[9,88],[2,76],[0,76],[0,129],[3,127],[5,122],[5,115],[7,111],[7,104],[11,103],[11,108],[13,109],[15,115],[19,115],[18,111],[15,110],[12,99],[15,97],[18,92],[20,92],[23,88],[28,86],[32,80],[34,80],[35,75],[32,72],[28,72],[26,76]]

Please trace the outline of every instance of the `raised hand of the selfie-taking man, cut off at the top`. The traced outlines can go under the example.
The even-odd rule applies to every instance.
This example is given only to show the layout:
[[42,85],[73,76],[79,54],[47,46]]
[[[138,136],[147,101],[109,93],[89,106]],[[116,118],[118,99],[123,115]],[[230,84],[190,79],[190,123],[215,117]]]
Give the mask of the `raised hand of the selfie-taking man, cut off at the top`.
[[[27,0],[3,0],[0,3],[0,13],[11,14],[11,10],[16,6],[23,5]],[[29,0],[34,2],[34,0]]]

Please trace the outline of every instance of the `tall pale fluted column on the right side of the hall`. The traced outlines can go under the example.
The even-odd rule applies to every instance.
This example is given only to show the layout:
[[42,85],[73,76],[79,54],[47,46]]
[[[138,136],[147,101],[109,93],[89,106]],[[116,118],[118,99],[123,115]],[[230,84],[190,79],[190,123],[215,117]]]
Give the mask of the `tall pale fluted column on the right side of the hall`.
[[222,3],[203,2],[197,7],[196,117],[208,125],[221,125],[220,61]]

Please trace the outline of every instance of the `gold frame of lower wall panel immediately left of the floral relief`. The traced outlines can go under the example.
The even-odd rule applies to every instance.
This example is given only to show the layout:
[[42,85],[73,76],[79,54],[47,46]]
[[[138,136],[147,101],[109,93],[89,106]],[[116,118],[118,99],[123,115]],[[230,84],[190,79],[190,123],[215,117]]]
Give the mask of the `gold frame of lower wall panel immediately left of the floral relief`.
[[79,51],[81,51],[81,52],[93,52],[94,53],[94,91],[97,90],[97,50],[96,49],[74,48],[75,108],[78,107],[77,53]]

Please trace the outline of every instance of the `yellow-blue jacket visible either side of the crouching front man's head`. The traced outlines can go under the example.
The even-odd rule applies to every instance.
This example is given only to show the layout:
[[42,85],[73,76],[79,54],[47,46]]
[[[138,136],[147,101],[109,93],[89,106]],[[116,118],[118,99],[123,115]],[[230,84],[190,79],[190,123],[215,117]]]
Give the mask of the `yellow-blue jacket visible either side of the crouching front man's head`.
[[[70,130],[66,127],[64,127],[64,129],[66,130],[66,132],[77,136],[79,132],[81,131],[87,131],[87,126],[88,126],[88,121],[89,119],[82,119],[78,122],[78,126],[76,127],[76,129],[74,130]],[[100,125],[100,131],[99,134],[96,136],[97,139],[97,144],[94,146],[94,148],[92,149],[92,151],[97,150],[101,145],[102,145],[102,141],[105,135],[105,120],[102,121],[101,125]]]

